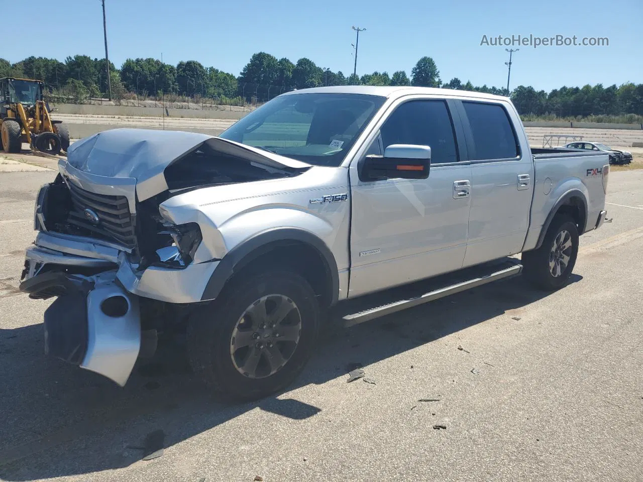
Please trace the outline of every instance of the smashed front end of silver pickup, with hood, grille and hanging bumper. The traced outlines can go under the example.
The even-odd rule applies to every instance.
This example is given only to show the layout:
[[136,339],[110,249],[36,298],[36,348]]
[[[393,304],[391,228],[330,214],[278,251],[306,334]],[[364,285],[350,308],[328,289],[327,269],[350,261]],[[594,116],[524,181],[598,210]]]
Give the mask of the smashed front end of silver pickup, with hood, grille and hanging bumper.
[[37,196],[20,285],[30,298],[57,297],[44,315],[46,351],[123,386],[149,351],[141,332],[179,323],[224,254],[203,242],[204,228],[217,233],[210,220],[176,224],[163,202],[307,168],[190,132],[118,129],[75,143]]

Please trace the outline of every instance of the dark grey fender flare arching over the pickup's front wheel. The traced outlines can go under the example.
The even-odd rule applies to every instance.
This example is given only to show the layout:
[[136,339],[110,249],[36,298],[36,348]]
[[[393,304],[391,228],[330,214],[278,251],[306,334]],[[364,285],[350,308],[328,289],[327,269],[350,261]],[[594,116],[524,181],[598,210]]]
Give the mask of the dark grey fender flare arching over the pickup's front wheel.
[[268,253],[274,247],[291,244],[292,242],[307,244],[320,254],[321,260],[331,276],[331,304],[336,303],[340,292],[340,275],[335,256],[320,238],[310,231],[298,228],[267,229],[233,247],[223,256],[212,276],[210,276],[210,280],[208,280],[203,290],[201,301],[217,298],[231,276],[240,271],[249,262],[258,258],[258,256]]

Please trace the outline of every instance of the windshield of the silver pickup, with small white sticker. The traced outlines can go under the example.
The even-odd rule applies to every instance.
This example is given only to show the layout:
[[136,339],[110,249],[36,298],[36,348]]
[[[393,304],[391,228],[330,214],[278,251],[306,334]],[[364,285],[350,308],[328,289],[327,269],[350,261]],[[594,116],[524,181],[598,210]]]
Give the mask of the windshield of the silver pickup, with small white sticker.
[[363,94],[289,94],[262,105],[219,137],[309,164],[339,166],[385,100]]

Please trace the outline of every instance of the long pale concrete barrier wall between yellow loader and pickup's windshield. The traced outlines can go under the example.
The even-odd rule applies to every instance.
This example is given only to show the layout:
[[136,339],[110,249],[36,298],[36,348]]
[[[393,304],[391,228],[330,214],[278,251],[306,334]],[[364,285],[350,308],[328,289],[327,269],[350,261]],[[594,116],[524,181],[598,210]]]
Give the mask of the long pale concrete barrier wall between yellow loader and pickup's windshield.
[[[57,107],[61,114],[80,114],[89,116],[124,116],[124,117],[161,117],[163,107],[129,107],[125,105],[89,105],[59,103],[50,104]],[[221,105],[221,111],[201,111],[197,109],[167,109],[172,118],[191,119],[233,119],[239,120],[249,111],[226,111],[226,106]],[[229,107],[228,107],[229,109]],[[53,112],[53,118],[56,113]]]

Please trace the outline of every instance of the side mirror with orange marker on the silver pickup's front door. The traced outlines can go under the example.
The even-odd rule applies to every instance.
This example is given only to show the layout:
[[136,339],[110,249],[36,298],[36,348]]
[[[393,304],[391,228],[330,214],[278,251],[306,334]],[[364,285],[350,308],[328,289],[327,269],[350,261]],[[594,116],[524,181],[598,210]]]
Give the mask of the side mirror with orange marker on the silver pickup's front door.
[[358,167],[361,181],[382,179],[426,179],[431,166],[431,148],[412,144],[392,144],[384,156],[366,156]]

